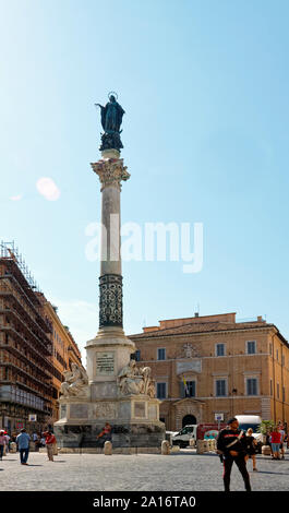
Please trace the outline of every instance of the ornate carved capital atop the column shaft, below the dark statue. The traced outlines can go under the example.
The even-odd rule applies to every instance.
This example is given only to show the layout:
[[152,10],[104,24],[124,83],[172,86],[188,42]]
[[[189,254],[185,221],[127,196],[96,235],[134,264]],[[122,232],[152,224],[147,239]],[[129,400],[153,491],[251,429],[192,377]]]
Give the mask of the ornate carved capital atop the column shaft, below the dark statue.
[[123,158],[106,158],[91,164],[94,172],[98,175],[101,191],[109,186],[121,188],[121,181],[129,180],[130,174],[127,171],[127,166],[123,165]]

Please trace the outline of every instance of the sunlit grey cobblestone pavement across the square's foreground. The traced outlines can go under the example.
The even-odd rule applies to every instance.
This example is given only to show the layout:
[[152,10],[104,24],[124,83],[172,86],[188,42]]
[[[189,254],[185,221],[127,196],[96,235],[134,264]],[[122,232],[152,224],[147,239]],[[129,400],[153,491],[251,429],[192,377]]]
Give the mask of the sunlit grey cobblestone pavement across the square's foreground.
[[[216,454],[196,455],[181,450],[169,456],[61,454],[48,462],[44,453],[31,453],[29,466],[20,464],[19,454],[0,462],[3,491],[222,491],[222,465]],[[252,472],[256,491],[289,490],[289,451],[284,461],[257,456],[258,473]],[[242,477],[233,465],[231,491],[243,490]]]

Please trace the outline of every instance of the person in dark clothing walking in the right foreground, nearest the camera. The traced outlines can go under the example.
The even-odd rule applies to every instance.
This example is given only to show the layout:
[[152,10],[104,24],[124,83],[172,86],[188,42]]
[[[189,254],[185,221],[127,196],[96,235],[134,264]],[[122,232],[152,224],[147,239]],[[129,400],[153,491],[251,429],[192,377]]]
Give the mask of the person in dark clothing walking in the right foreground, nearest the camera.
[[230,491],[230,477],[233,463],[236,463],[242,475],[245,490],[251,491],[250,477],[245,466],[246,439],[243,431],[239,429],[237,418],[230,419],[227,428],[220,430],[217,439],[217,453],[222,457],[225,491]]

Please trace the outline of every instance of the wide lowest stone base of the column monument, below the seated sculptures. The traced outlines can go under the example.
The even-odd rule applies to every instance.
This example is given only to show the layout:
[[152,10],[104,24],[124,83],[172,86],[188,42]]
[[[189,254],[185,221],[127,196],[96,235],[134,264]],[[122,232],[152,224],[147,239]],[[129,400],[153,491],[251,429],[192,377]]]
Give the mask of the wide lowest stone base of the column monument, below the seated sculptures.
[[[165,426],[159,421],[159,401],[145,395],[105,397],[80,401],[60,399],[60,420],[55,434],[60,449],[99,449],[107,440],[116,448],[142,448],[160,452]],[[97,436],[105,423],[111,426],[111,436]],[[96,451],[98,452],[98,451]]]

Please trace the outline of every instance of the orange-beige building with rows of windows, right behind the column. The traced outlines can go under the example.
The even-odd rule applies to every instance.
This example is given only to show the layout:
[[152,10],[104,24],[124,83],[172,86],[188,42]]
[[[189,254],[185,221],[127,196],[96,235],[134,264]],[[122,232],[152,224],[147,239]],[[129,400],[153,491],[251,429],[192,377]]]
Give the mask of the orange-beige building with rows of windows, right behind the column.
[[130,335],[152,368],[167,430],[234,415],[289,421],[289,345],[261,317],[236,313],[172,319]]

